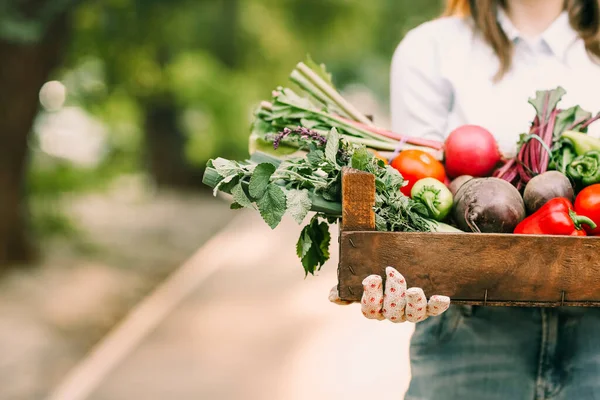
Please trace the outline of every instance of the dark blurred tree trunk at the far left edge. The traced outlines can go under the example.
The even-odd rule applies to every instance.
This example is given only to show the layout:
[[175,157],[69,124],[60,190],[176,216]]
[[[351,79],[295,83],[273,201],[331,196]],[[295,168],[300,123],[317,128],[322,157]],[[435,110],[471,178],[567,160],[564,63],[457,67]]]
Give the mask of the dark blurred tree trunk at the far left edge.
[[35,44],[0,40],[0,270],[35,254],[27,231],[27,143],[38,93],[61,59],[66,16]]

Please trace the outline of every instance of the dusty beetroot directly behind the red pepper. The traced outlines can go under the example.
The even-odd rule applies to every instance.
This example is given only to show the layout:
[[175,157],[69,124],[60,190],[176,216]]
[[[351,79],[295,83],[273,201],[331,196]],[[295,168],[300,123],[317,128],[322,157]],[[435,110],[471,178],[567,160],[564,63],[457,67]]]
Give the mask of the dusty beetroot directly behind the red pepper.
[[558,171],[547,171],[534,177],[523,192],[525,208],[529,214],[533,214],[549,200],[557,197],[564,197],[569,201],[575,199],[569,178]]

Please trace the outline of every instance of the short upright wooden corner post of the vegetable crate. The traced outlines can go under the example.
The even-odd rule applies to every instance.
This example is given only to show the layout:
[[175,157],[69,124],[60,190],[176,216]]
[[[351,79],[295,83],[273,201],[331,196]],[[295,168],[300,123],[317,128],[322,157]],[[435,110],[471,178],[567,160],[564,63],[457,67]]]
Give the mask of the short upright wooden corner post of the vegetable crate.
[[348,231],[375,230],[375,176],[351,168],[342,171],[342,224]]

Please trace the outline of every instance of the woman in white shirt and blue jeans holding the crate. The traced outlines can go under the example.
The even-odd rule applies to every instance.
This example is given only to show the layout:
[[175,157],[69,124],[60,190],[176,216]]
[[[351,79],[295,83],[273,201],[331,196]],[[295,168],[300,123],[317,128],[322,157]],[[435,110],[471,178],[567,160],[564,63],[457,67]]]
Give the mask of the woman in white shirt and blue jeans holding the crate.
[[[393,130],[444,139],[477,124],[512,155],[537,90],[562,86],[561,106],[600,111],[598,60],[599,0],[449,1],[445,17],[409,32],[396,50]],[[596,124],[590,134],[598,133]],[[369,300],[387,282],[368,285]],[[452,306],[416,325],[406,399],[600,399],[596,332],[598,309]]]

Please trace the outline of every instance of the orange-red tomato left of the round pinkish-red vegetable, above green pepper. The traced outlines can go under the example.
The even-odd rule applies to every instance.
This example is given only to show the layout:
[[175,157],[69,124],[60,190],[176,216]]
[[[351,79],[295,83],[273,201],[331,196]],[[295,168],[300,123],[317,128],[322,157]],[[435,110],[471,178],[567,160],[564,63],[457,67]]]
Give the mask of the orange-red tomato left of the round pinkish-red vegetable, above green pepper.
[[440,182],[446,180],[446,171],[442,163],[425,151],[405,150],[394,158],[390,165],[408,181],[408,185],[401,189],[406,196],[410,196],[413,185],[419,179],[435,178]]

